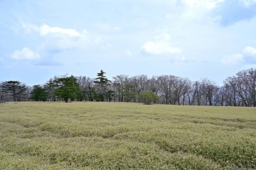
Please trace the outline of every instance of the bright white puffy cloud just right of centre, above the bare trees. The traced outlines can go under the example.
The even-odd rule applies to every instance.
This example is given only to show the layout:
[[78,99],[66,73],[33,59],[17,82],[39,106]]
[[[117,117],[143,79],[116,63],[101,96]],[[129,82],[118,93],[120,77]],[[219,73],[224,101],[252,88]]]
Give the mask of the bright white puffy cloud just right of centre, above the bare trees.
[[181,48],[171,45],[171,35],[169,33],[160,33],[155,36],[154,41],[145,42],[141,50],[151,55],[169,55],[181,53]]

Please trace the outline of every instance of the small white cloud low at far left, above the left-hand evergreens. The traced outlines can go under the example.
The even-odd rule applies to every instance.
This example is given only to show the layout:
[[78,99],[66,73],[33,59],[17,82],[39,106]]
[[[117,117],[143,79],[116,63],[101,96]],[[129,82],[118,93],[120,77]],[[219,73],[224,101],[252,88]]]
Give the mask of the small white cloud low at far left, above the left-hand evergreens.
[[30,50],[28,47],[24,47],[20,51],[14,51],[11,55],[11,58],[14,60],[38,60],[40,59],[40,55],[33,50]]

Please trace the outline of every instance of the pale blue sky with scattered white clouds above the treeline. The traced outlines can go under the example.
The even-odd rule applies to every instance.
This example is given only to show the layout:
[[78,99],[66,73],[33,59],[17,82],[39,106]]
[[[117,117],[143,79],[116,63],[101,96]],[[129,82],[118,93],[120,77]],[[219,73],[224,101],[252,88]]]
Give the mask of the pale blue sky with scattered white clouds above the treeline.
[[0,81],[256,68],[256,0],[0,0]]

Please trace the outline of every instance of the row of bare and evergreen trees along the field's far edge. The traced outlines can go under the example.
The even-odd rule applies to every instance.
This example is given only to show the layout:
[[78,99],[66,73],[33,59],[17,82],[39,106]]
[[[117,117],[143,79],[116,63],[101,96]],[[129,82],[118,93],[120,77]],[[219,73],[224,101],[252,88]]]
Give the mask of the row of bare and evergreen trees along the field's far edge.
[[[26,86],[19,81],[0,84],[0,101],[119,101],[137,102],[139,94],[151,91],[156,102],[197,106],[256,106],[256,69],[228,77],[223,86],[210,79],[190,81],[173,75],[129,77],[118,75],[112,81],[102,70],[97,77],[60,76],[46,84]],[[142,96],[142,95],[140,95]]]

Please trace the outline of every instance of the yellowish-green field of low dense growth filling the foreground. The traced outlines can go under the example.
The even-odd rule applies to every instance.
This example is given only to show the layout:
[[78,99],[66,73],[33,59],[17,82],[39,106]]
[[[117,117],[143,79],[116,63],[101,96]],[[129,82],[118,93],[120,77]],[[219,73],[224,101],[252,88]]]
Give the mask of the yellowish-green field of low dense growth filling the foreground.
[[256,108],[1,103],[0,169],[256,169]]

